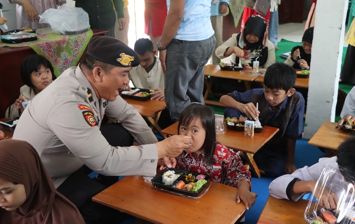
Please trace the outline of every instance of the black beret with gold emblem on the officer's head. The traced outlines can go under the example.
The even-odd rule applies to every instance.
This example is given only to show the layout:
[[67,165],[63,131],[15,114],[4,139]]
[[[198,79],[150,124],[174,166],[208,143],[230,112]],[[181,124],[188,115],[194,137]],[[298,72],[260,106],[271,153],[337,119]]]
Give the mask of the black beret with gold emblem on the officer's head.
[[119,67],[136,67],[141,63],[133,49],[109,36],[93,37],[86,53],[101,62]]

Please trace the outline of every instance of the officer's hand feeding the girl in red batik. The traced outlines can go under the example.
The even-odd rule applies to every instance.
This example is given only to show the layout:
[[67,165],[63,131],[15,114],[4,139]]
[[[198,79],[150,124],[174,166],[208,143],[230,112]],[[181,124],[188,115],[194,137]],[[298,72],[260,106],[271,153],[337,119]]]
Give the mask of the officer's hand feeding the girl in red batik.
[[185,135],[173,135],[161,142],[155,143],[158,148],[158,158],[177,157],[184,149],[191,147],[191,137]]

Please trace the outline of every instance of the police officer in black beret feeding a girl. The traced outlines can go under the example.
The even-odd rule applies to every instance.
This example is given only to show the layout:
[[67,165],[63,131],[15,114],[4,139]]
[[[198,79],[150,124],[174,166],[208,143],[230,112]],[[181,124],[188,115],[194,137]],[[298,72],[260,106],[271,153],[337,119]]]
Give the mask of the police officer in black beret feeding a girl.
[[[79,66],[67,69],[35,96],[15,129],[13,138],[35,147],[57,190],[78,207],[86,223],[102,223],[113,212],[91,201],[106,188],[87,176],[91,170],[108,176],[154,176],[159,158],[171,167],[167,157],[190,147],[190,137],[183,135],[158,142],[139,113],[119,96],[129,84],[128,72],[139,64],[138,55],[123,42],[92,38]],[[118,122],[108,131],[100,128],[104,114]],[[113,135],[120,146],[110,145],[103,133]],[[130,146],[131,134],[140,146]]]

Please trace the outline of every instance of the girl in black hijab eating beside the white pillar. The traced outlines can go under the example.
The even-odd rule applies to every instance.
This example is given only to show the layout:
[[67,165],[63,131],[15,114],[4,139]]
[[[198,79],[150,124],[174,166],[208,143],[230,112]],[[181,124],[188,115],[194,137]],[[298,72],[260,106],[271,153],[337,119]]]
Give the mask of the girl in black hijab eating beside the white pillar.
[[303,33],[302,46],[295,46],[292,48],[285,64],[291,65],[294,69],[310,69],[313,31],[314,27],[311,27]]

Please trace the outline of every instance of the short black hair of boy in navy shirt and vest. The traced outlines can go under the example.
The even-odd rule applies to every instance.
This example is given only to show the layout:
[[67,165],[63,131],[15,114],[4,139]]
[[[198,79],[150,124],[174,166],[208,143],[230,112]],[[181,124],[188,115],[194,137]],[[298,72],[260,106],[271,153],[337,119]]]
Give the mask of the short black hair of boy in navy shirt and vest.
[[264,85],[271,90],[292,89],[296,82],[296,71],[293,67],[284,63],[275,63],[270,65],[265,72]]

